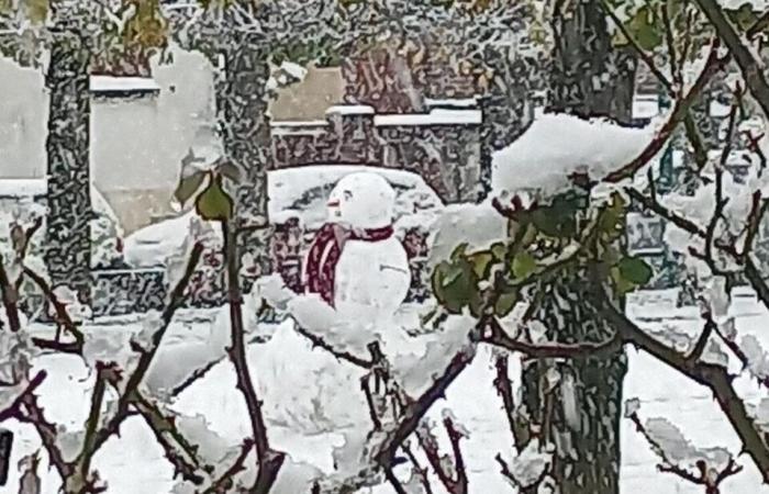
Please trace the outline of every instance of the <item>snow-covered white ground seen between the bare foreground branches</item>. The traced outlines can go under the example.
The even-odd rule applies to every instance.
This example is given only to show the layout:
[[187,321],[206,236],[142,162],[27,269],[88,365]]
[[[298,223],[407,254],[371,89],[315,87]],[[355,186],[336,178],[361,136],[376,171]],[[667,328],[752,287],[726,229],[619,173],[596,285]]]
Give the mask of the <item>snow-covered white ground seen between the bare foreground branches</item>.
[[[656,300],[644,296],[640,301],[631,302],[628,314],[649,329],[676,328],[692,332],[699,329],[700,322],[694,307],[677,310],[670,304],[672,299],[666,296],[669,293],[660,292],[656,295],[659,295]],[[755,297],[740,293],[740,296],[735,297],[732,311],[737,316],[737,330],[740,335],[754,335],[759,341],[769,345],[769,334],[766,332],[769,313],[756,303]],[[164,355],[165,358],[174,355],[177,359],[193,360],[197,355],[196,349],[216,344],[212,341],[212,335],[216,333],[216,328],[212,328],[212,325],[221,324],[218,321],[222,319],[218,318],[216,311],[180,313],[165,340],[159,359],[163,359]],[[141,318],[136,316],[99,321],[88,330],[100,334],[140,329],[141,326]],[[44,327],[35,328],[35,332],[47,330]],[[252,361],[257,358],[260,346],[261,344],[253,344],[249,347]],[[739,451],[736,435],[707,390],[693,384],[646,355],[629,350],[628,357],[629,372],[625,381],[625,393],[626,397],[637,396],[640,400],[639,415],[643,419],[653,416],[665,417],[680,427],[687,438],[698,447],[723,446],[734,453]],[[299,364],[291,363],[291,355],[286,355],[286,359],[289,366]],[[509,450],[511,441],[500,398],[492,386],[494,372],[491,362],[491,350],[482,348],[471,368],[448,390],[446,401],[436,404],[432,416],[437,419],[442,411],[449,407],[457,419],[470,430],[469,439],[464,442],[470,492],[512,493],[513,489],[499,474],[494,462],[494,456],[498,452],[502,452],[508,458],[513,453]],[[48,378],[38,390],[41,404],[45,407],[47,416],[65,425],[67,429],[80,429],[87,414],[88,389],[92,382],[87,368],[78,358],[70,356],[44,356],[35,363],[37,368],[48,370]],[[515,374],[516,370],[513,370],[513,377]],[[256,379],[259,380],[259,375],[256,375]],[[269,384],[261,383],[261,385]],[[291,385],[288,382],[272,384]],[[749,401],[761,395],[758,386],[748,382],[747,379],[740,379],[737,388]],[[188,413],[203,414],[211,430],[233,445],[248,436],[245,406],[235,390],[234,374],[229,362],[214,368],[182,395],[178,408],[185,408]],[[0,489],[0,492],[15,493],[19,482],[19,473],[14,470],[16,462],[23,456],[38,449],[41,445],[36,434],[29,426],[12,422],[3,426],[13,429],[18,436],[12,454],[11,478],[8,485]],[[270,435],[275,447],[288,451],[292,460],[313,463],[326,471],[332,468],[328,461],[331,448],[339,446],[342,441],[341,437],[334,435],[296,437],[280,427],[271,427]],[[686,484],[671,474],[657,472],[656,457],[629,420],[623,422],[622,451],[623,493],[701,494],[703,492],[701,486]],[[769,492],[769,487],[761,485],[760,475],[751,461],[745,456],[739,457],[738,460],[745,470],[728,479],[723,484],[722,492],[732,494]],[[42,467],[43,493],[54,494],[58,486],[57,475],[48,471],[45,459]],[[120,438],[109,441],[97,454],[94,467],[102,479],[109,482],[110,494],[165,494],[169,493],[175,484],[171,479],[171,467],[164,459],[163,451],[155,444],[152,433],[143,425],[141,418],[136,417],[130,418],[123,425]],[[293,489],[285,486],[276,492],[298,494]],[[391,493],[392,490],[389,486],[382,486],[375,492]]]

